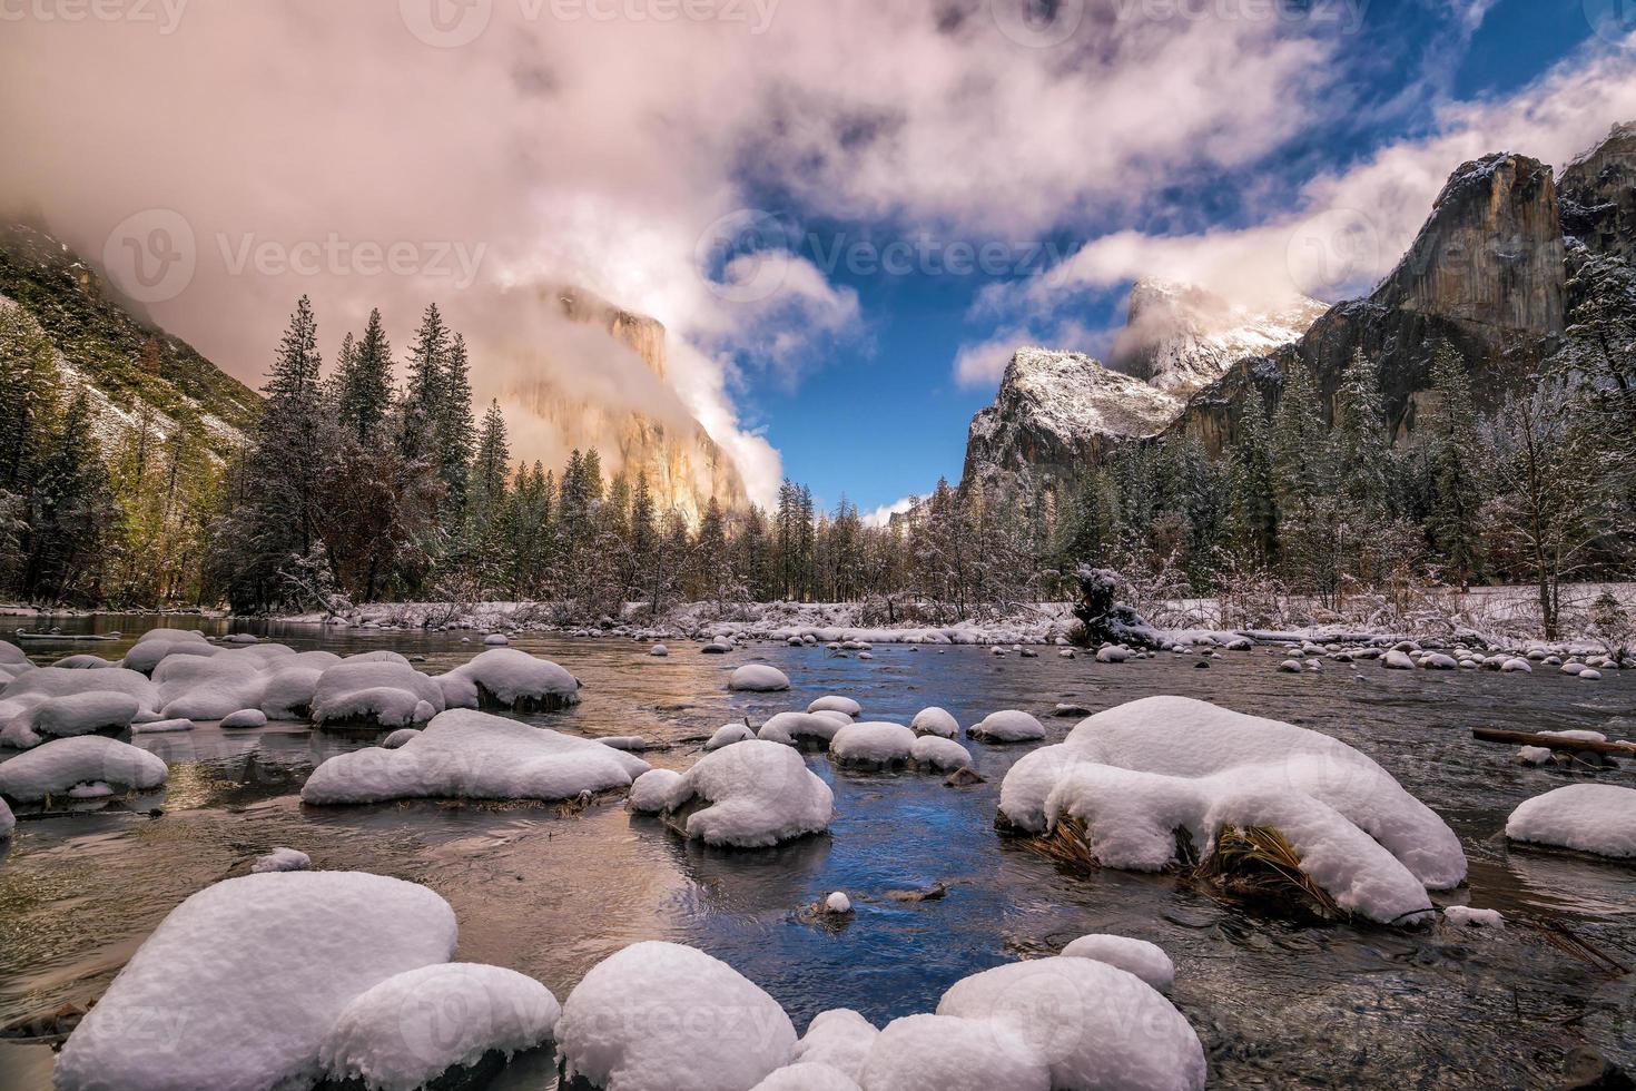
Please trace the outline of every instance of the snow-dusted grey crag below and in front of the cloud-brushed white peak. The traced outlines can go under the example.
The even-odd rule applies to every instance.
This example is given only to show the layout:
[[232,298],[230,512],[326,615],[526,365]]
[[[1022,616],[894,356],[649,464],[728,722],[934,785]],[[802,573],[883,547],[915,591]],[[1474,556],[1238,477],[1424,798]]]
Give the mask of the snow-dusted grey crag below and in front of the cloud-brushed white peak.
[[1076,352],[1019,348],[995,404],[972,419],[962,484],[1055,494],[1109,447],[1157,435],[1173,394]]

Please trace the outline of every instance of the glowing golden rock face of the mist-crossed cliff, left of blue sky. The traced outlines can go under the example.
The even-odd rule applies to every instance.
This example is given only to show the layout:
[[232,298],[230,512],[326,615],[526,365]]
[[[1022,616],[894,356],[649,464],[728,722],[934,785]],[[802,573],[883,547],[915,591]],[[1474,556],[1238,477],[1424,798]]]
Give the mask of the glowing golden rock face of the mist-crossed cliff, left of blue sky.
[[[543,294],[546,306],[560,308],[569,321],[605,330],[609,353],[628,348],[664,379],[666,330],[661,322],[581,290]],[[692,417],[661,420],[628,406],[607,404],[582,389],[569,389],[553,375],[515,381],[509,396],[543,420],[564,451],[596,447],[607,473],[646,474],[659,510],[674,507],[697,523],[710,497],[725,510],[749,507],[738,466]]]

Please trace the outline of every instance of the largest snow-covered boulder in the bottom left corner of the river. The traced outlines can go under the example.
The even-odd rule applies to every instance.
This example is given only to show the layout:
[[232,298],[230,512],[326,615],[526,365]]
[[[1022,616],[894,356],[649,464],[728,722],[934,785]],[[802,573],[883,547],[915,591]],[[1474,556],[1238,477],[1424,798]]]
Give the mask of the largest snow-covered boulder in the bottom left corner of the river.
[[[75,1027],[59,1091],[308,1088],[358,994],[455,954],[425,887],[357,872],[245,875],[160,923]],[[162,1027],[162,1029],[159,1029]]]

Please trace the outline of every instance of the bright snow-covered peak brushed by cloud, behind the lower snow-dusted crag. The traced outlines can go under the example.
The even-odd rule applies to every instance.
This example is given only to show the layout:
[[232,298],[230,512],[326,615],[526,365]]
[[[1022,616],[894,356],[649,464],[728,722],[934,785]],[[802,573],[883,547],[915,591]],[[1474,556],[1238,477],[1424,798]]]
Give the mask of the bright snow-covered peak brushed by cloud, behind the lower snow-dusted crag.
[[1297,299],[1252,311],[1194,285],[1139,280],[1108,366],[1186,397],[1235,361],[1299,340],[1325,309],[1317,299]]

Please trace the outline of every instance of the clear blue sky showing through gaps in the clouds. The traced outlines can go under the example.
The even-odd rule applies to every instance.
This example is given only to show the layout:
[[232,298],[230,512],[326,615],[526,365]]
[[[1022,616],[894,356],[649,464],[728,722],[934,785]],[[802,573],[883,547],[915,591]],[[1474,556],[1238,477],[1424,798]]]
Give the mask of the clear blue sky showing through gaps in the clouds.
[[[1350,116],[1330,118],[1232,173],[1178,178],[1165,206],[1148,209],[1145,219],[1103,219],[1094,209],[1067,218],[1054,240],[1072,252],[1119,227],[1188,234],[1253,224],[1258,209],[1247,208],[1247,191],[1256,193],[1255,203],[1279,193],[1296,201],[1309,177],[1345,170],[1435,131],[1436,111],[1448,101],[1503,101],[1592,39],[1580,0],[1499,0],[1469,38],[1463,18],[1456,5],[1376,0],[1364,13],[1368,49],[1348,61],[1335,88],[1351,101]],[[1418,88],[1415,100],[1397,101],[1407,88]],[[1096,155],[1094,141],[1086,155]],[[1261,195],[1268,188],[1271,198]],[[789,195],[767,191],[759,200],[764,208],[800,213]],[[890,224],[820,219],[807,229],[825,239],[890,237]],[[797,381],[741,388],[746,419],[766,427],[784,471],[829,505],[844,494],[867,512],[928,491],[939,474],[959,479],[967,424],[991,401],[993,384],[955,383],[952,365],[962,347],[995,332],[993,316],[973,306],[996,280],[1016,278],[838,270],[831,281],[857,293],[857,329],[811,345]],[[1106,288],[1076,296],[1072,316],[1090,335],[1060,347],[1104,350],[1104,330],[1122,321],[1122,288]]]

